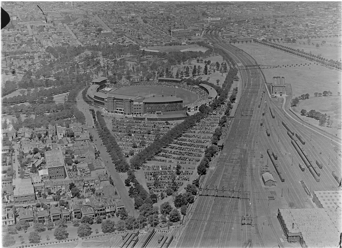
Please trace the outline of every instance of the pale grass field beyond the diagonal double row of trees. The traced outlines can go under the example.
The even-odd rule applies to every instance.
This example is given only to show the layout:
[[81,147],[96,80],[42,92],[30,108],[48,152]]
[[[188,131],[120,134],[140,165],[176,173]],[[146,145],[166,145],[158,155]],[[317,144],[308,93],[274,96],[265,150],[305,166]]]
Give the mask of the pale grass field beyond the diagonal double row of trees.
[[[308,42],[310,41],[310,42]],[[321,44],[322,41],[326,41],[325,44]],[[341,59],[341,44],[339,44],[339,41],[341,41],[340,37],[337,38],[316,38],[316,39],[302,39],[297,40],[296,43],[278,43],[276,44],[282,44],[284,46],[291,47],[293,49],[304,49],[304,52],[318,55],[321,54],[324,58],[327,59],[333,59],[333,60],[340,60]],[[305,43],[305,45],[304,45]],[[313,43],[313,44],[312,44]],[[319,48],[316,48],[316,44],[319,45]]]

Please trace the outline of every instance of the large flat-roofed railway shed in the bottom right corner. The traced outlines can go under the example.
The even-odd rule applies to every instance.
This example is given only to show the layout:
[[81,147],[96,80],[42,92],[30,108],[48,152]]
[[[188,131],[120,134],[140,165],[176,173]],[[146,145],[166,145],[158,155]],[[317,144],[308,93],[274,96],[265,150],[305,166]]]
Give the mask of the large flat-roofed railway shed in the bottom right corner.
[[334,247],[340,241],[340,209],[278,209],[277,218],[288,242],[299,242],[302,247]]

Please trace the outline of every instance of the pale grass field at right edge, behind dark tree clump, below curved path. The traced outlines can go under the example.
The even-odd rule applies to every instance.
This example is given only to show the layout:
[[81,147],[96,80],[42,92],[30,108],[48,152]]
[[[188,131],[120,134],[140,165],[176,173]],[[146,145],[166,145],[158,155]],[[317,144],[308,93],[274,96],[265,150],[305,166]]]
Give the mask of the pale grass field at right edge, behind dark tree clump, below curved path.
[[[300,113],[302,109],[307,112],[314,109],[323,114],[330,115],[332,122],[332,128],[337,128],[342,120],[342,98],[341,96],[322,96],[322,97],[312,97],[308,100],[303,100],[299,103],[297,107],[293,110]],[[308,119],[308,118],[306,118]],[[318,123],[318,120],[316,120]]]

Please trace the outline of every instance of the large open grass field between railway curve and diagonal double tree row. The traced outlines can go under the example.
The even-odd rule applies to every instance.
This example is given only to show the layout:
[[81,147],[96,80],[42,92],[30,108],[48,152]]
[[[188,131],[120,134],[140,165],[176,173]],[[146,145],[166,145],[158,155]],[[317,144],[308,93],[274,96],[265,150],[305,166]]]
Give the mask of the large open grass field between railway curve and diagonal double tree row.
[[[313,96],[315,92],[331,91],[333,95],[341,92],[341,72],[328,69],[324,66],[314,65],[313,62],[272,49],[256,43],[235,44],[249,53],[261,65],[294,65],[264,69],[267,83],[272,83],[274,76],[285,77],[285,82],[292,86],[292,94],[300,96],[308,93]],[[295,64],[309,64],[309,66],[295,66]]]

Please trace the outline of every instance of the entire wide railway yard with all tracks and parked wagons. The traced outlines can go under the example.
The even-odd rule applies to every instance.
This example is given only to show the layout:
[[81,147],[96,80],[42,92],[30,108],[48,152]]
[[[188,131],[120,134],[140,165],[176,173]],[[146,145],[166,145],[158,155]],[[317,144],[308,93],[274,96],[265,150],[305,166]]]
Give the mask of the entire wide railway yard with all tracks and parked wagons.
[[[257,64],[235,46],[208,38],[236,63]],[[341,141],[290,118],[282,99],[268,95],[260,69],[240,75],[244,87],[235,117],[176,247],[284,247],[278,209],[311,211],[318,208],[314,191],[340,190]],[[264,185],[266,172],[275,186]],[[339,237],[330,242],[338,245]]]

